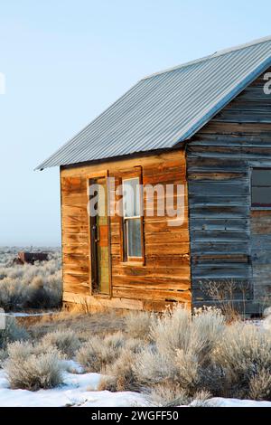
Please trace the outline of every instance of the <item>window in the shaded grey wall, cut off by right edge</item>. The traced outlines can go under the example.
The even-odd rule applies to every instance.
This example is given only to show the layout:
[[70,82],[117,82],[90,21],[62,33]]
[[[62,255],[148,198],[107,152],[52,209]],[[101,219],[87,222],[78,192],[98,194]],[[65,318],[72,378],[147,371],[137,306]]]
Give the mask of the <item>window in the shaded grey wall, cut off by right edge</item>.
[[271,208],[271,168],[252,169],[251,206]]

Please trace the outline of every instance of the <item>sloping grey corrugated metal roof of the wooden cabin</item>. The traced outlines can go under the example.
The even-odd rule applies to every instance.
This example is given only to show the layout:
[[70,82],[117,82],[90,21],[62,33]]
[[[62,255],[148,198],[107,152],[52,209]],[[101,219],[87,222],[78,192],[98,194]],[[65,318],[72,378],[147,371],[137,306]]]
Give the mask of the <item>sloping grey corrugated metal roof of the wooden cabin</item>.
[[266,37],[145,77],[37,169],[173,147],[269,66]]

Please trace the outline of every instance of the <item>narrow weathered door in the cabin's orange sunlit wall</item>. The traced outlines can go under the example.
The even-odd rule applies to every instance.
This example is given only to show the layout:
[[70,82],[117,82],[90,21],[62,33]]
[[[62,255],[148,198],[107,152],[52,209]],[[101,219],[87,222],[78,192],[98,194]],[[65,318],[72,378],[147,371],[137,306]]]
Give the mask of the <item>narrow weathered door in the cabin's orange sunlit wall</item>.
[[96,184],[95,210],[90,214],[90,249],[91,249],[91,291],[93,294],[110,295],[110,255],[109,255],[109,221],[107,214],[107,176],[92,178],[89,184]]

